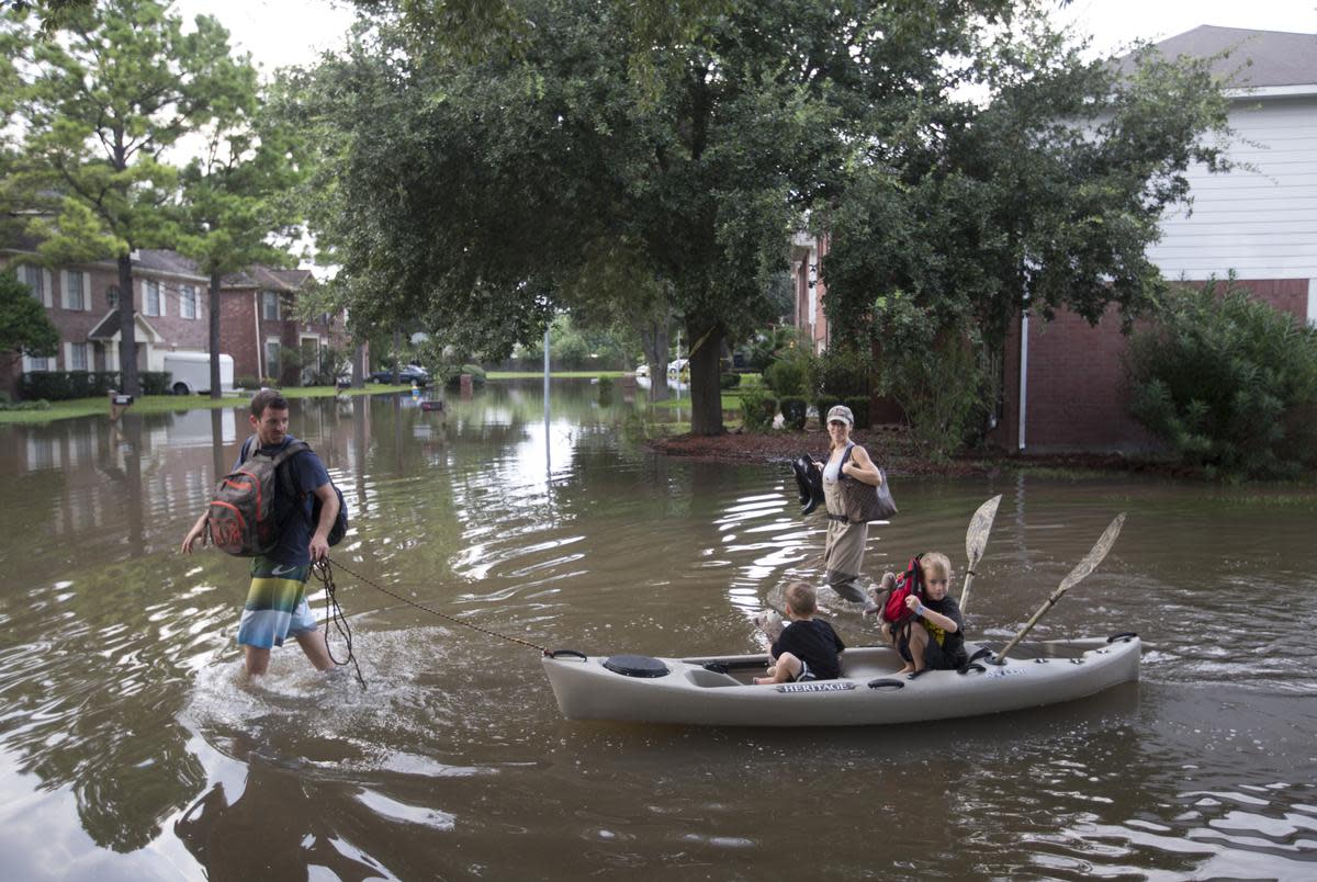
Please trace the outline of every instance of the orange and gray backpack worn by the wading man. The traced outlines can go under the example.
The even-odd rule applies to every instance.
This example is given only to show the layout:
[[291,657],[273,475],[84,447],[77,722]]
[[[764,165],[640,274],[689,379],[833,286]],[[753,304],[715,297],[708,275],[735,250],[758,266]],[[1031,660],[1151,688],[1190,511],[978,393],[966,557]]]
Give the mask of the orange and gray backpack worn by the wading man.
[[[237,470],[220,479],[211,499],[207,528],[217,549],[237,557],[257,557],[274,550],[284,523],[299,502],[291,475],[281,466],[309,449],[307,442],[294,441],[269,455],[261,452],[254,437],[248,438]],[[329,531],[329,545],[337,545],[348,531],[348,507],[342,492],[337,487],[333,490],[338,494],[338,519]],[[312,525],[320,519],[319,503],[317,498],[311,513]]]

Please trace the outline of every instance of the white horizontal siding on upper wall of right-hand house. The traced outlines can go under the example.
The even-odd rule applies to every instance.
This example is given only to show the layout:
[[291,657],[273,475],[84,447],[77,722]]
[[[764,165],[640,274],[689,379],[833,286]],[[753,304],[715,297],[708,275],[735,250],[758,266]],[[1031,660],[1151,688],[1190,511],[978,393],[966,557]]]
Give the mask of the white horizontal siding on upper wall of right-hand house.
[[[1191,171],[1148,257],[1168,279],[1317,279],[1317,95],[1233,104],[1229,174]],[[1309,313],[1312,316],[1312,313]]]

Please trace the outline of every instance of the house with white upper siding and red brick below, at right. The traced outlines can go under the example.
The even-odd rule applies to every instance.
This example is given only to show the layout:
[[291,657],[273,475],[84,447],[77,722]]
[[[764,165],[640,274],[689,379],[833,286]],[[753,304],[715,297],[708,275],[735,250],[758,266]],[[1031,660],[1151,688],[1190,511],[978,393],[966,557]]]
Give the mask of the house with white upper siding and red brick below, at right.
[[[1167,57],[1210,57],[1234,75],[1234,171],[1189,172],[1192,213],[1162,221],[1148,257],[1166,279],[1225,279],[1277,309],[1317,323],[1317,34],[1201,26],[1156,45]],[[1242,67],[1247,61],[1247,67]],[[1242,70],[1241,70],[1242,68]],[[1023,316],[1006,344],[1002,419],[1009,450],[1143,450],[1154,438],[1129,416],[1115,311],[1097,326],[1063,312]]]

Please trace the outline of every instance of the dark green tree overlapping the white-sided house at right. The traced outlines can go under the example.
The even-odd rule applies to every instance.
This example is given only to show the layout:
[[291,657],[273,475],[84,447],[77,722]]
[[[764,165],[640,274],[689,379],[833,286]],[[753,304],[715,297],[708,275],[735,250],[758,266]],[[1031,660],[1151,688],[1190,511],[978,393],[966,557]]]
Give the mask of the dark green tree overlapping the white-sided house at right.
[[1187,197],[1187,169],[1226,167],[1226,101],[1210,61],[1119,67],[1081,49],[1019,4],[959,74],[981,97],[944,91],[900,125],[871,120],[819,219],[834,337],[872,334],[888,363],[934,357],[917,340],[959,346],[948,334],[990,355],[1022,311],[1096,324],[1110,304],[1129,321],[1156,300],[1146,249]]

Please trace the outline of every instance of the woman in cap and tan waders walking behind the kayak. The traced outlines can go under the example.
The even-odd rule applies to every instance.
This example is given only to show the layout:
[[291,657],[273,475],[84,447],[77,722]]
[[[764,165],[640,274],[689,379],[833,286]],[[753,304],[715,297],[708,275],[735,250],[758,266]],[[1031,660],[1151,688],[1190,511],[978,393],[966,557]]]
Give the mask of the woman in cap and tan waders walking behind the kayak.
[[865,603],[857,581],[864,565],[864,542],[869,537],[867,521],[849,521],[842,499],[842,480],[853,478],[871,487],[882,482],[878,467],[869,452],[851,441],[855,415],[851,408],[838,404],[827,412],[827,434],[831,453],[823,466],[823,504],[827,507],[827,541],[823,545],[823,565],[827,584],[844,600]]

